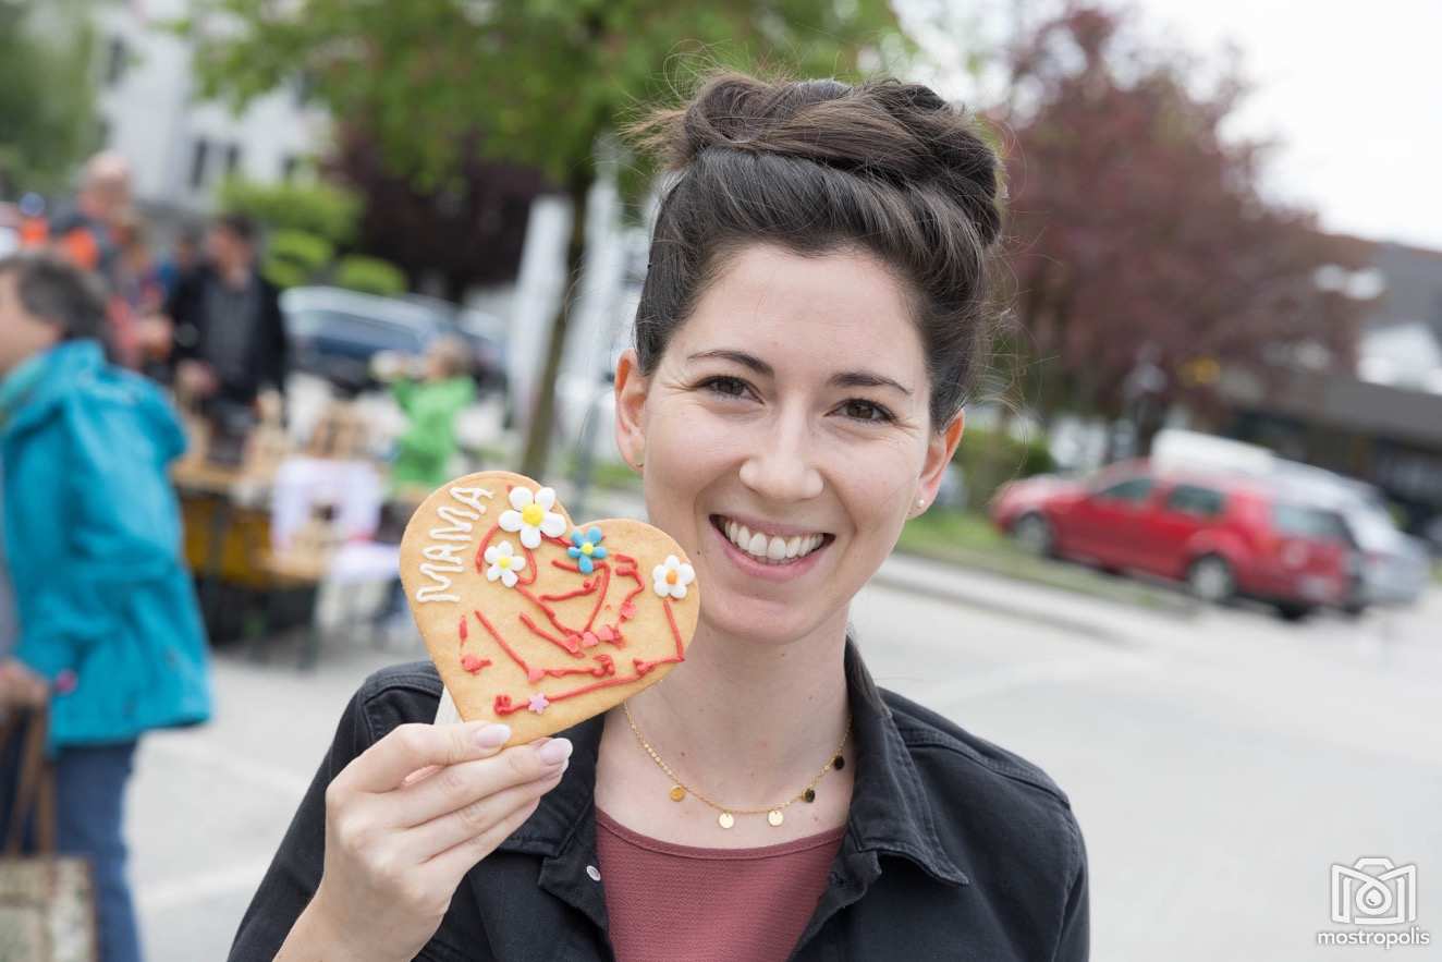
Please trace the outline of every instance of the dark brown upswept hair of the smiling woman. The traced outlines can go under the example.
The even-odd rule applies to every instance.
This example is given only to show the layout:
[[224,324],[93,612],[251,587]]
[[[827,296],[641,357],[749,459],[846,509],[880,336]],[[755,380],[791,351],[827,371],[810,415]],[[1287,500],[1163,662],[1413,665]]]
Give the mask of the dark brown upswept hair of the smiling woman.
[[910,288],[933,428],[960,410],[991,346],[988,252],[1001,232],[996,153],[965,111],[895,79],[721,74],[632,134],[675,175],[636,312],[642,374],[738,248],[859,248]]

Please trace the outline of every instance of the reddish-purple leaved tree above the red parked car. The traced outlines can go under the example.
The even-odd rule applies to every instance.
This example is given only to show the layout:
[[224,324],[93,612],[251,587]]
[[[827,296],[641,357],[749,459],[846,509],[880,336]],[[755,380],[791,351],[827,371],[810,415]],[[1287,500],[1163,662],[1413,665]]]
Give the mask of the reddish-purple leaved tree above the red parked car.
[[[1355,248],[1262,196],[1266,144],[1227,140],[1244,94],[1206,65],[1071,6],[1017,37],[1007,133],[1019,322],[1015,356],[1044,414],[1122,414],[1139,358],[1167,375],[1156,408],[1206,405],[1214,374],[1279,356],[1350,369],[1357,304],[1321,291]],[[1200,375],[1198,375],[1200,372]]]

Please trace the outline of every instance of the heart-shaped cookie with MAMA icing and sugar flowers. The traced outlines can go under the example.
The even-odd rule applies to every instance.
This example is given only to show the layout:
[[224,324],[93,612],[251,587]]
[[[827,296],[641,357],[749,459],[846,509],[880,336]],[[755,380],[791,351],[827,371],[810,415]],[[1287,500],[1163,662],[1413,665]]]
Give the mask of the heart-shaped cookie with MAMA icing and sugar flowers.
[[701,594],[681,547],[640,521],[571,524],[555,492],[479,472],[405,526],[401,581],[466,721],[521,744],[606,711],[685,659]]

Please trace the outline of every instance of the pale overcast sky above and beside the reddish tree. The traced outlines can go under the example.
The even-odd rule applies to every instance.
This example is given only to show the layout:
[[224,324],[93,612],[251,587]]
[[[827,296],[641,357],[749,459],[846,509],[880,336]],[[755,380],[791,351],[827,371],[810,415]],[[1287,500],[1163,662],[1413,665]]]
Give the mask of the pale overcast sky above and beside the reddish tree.
[[[956,63],[957,35],[995,36],[1018,0],[894,0],[950,20],[923,40]],[[1061,0],[1019,0],[1028,16]],[[1110,0],[1122,6],[1125,0]],[[1328,231],[1442,250],[1442,0],[1131,0],[1148,36],[1220,61],[1242,52],[1255,91],[1240,134],[1280,141],[1266,186]],[[950,97],[970,81],[927,78]],[[955,81],[955,84],[952,82]],[[982,97],[985,100],[985,95]]]

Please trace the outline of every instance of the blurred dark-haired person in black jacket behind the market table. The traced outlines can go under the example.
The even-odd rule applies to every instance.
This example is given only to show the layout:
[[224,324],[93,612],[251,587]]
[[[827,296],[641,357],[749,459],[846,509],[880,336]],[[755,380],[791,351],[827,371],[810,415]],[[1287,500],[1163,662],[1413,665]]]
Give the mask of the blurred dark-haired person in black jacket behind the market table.
[[212,418],[254,412],[264,388],[284,394],[287,343],[280,291],[257,268],[255,222],[222,213],[208,260],[164,304],[174,326],[176,392]]

